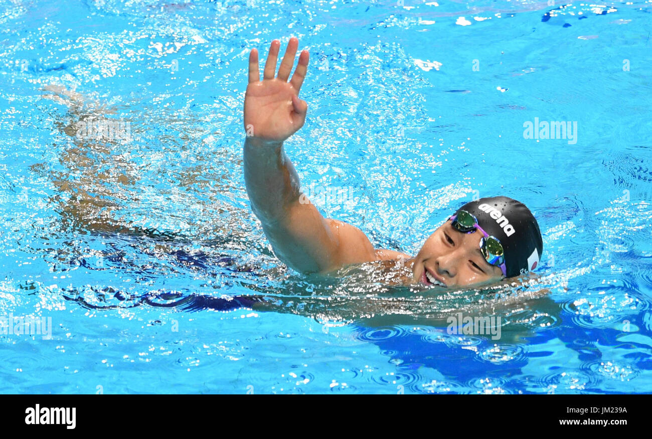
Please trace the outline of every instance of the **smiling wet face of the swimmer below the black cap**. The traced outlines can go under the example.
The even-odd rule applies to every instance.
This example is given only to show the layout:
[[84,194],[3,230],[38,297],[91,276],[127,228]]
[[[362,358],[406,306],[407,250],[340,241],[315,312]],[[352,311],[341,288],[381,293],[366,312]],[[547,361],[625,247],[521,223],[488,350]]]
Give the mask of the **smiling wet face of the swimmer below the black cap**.
[[446,287],[479,286],[496,283],[503,277],[500,267],[490,264],[480,253],[481,231],[461,233],[451,220],[431,234],[412,266],[415,283],[433,285],[426,272]]

